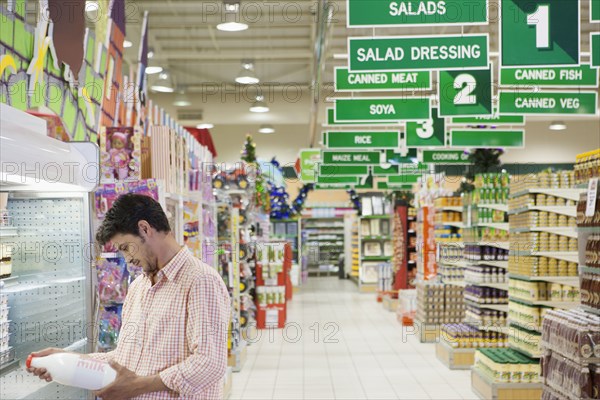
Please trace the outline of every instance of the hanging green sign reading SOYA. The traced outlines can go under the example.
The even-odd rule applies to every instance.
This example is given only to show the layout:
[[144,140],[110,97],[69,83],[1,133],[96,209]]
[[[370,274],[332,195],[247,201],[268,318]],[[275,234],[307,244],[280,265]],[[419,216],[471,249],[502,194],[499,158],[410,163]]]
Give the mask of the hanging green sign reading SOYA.
[[386,121],[429,119],[431,99],[415,97],[383,97],[336,99],[335,121]]

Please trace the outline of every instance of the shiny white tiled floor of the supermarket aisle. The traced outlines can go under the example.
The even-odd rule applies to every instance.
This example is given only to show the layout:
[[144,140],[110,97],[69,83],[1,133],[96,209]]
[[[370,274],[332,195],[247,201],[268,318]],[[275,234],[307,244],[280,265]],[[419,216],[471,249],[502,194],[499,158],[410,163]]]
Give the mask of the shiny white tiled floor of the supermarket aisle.
[[262,332],[230,399],[477,398],[468,371],[448,370],[414,335],[403,341],[395,318],[350,281],[310,278],[289,307],[287,339]]

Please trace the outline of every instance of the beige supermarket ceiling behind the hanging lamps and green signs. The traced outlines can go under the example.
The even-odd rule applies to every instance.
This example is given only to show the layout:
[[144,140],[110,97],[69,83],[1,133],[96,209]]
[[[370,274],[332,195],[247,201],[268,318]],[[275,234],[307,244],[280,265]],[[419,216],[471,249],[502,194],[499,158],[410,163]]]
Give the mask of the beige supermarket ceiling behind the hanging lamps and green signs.
[[[172,116],[185,111],[184,125],[201,120],[215,124],[213,136],[222,132],[239,132],[241,147],[246,133],[255,133],[261,123],[275,125],[277,133],[269,136],[280,142],[286,154],[291,143],[286,142],[285,125],[293,125],[293,146],[317,145],[318,133],[311,140],[311,117],[318,113],[323,122],[327,101],[333,96],[334,66],[346,65],[348,36],[427,35],[456,33],[490,33],[492,62],[497,60],[498,0],[490,2],[490,25],[466,27],[411,28],[346,28],[346,1],[330,0],[331,24],[325,31],[323,74],[318,104],[313,107],[312,84],[319,71],[316,68],[318,46],[318,6],[324,0],[278,0],[241,2],[240,20],[249,25],[242,32],[222,32],[216,25],[223,22],[224,5],[218,0],[127,0],[127,38],[133,46],[125,51],[131,66],[137,63],[137,52],[144,11],[149,12],[149,46],[154,50],[151,63],[158,63],[173,76],[174,83],[186,91],[192,100],[190,107],[172,106],[174,95],[151,94],[151,99]],[[581,51],[589,57],[589,32],[598,31],[598,24],[589,23],[589,2],[581,2]],[[494,52],[496,52],[494,54]],[[235,77],[242,60],[253,60],[261,83],[250,88],[238,85]],[[151,79],[156,79],[154,76]],[[435,80],[435,78],[434,78]],[[152,81],[151,81],[152,82]],[[248,108],[257,90],[266,94],[271,112],[250,113]],[[348,96],[339,94],[336,96]],[[540,118],[536,118],[540,120]],[[589,118],[591,127],[598,127],[597,118]],[[304,126],[304,129],[302,129]],[[290,126],[290,128],[292,128]],[[294,149],[296,151],[297,149]]]

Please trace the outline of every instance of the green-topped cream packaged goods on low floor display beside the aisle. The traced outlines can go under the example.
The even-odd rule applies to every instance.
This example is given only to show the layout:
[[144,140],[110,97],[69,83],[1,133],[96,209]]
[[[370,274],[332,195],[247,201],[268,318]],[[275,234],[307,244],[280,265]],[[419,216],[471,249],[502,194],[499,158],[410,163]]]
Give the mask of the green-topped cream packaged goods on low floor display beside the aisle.
[[538,383],[542,372],[538,360],[513,349],[479,349],[475,368],[497,383]]

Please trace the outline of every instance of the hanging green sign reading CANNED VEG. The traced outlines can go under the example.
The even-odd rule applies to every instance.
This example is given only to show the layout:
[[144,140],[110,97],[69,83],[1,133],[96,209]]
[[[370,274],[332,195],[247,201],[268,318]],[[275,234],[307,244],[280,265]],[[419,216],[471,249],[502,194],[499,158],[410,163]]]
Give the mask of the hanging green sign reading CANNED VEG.
[[596,92],[500,92],[500,112],[522,115],[597,115]]

